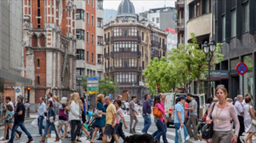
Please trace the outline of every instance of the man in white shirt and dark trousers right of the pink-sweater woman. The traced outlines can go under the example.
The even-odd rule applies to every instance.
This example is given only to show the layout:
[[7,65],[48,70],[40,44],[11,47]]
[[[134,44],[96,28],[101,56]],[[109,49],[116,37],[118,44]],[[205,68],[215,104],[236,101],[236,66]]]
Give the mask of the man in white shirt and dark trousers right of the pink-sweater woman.
[[238,133],[238,143],[241,143],[240,141],[240,135],[243,134],[244,132],[244,123],[243,123],[243,95],[238,95],[237,97],[237,101],[235,102],[235,110],[238,114],[238,120],[240,123],[240,129],[239,129],[239,133]]

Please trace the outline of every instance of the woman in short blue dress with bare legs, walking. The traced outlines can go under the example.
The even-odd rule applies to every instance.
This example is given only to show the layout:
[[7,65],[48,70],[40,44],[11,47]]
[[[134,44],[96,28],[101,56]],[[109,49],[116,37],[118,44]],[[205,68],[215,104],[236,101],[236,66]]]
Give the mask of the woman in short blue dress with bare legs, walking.
[[106,109],[103,106],[103,102],[104,102],[105,98],[104,98],[104,94],[99,94],[97,96],[97,102],[96,102],[96,110],[98,110],[99,112],[102,113],[102,117],[101,118],[96,118],[95,120],[95,130],[92,134],[92,138],[91,138],[91,143],[94,143],[94,137],[96,135],[96,133],[98,132],[99,128],[102,129],[102,133],[104,132],[104,126],[105,126],[105,115],[106,115]]

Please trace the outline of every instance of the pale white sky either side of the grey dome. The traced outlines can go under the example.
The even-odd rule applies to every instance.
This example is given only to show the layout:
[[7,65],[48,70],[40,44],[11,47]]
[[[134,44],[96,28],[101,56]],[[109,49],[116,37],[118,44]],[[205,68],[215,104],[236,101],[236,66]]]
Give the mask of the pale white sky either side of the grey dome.
[[[118,10],[118,5],[122,0],[104,0],[104,9]],[[176,0],[131,0],[135,13],[141,13],[152,8],[175,7]]]

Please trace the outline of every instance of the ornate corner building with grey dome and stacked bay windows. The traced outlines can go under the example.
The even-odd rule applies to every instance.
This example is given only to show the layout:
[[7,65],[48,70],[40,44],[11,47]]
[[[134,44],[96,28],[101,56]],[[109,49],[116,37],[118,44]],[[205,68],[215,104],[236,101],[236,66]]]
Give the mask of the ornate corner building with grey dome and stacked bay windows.
[[167,35],[152,21],[135,13],[130,0],[123,0],[118,13],[104,23],[104,77],[118,82],[123,100],[142,100],[146,90],[142,75],[149,61],[167,53]]

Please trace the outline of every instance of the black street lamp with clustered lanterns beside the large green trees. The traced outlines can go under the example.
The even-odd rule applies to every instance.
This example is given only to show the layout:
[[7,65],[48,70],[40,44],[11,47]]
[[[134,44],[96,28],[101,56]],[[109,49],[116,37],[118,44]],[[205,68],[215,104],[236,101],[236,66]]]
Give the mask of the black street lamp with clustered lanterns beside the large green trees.
[[203,50],[204,50],[206,59],[208,61],[208,97],[211,96],[210,68],[211,68],[211,61],[212,61],[212,57],[214,56],[215,48],[216,48],[216,43],[213,39],[210,41],[210,43],[208,43],[207,41],[204,42]]

